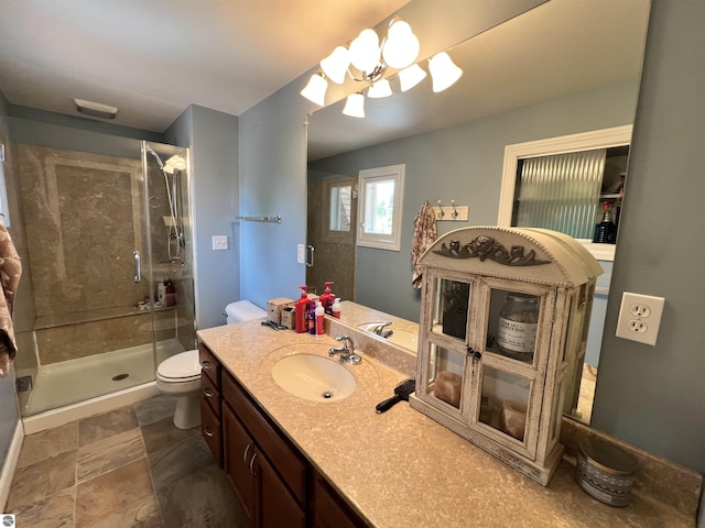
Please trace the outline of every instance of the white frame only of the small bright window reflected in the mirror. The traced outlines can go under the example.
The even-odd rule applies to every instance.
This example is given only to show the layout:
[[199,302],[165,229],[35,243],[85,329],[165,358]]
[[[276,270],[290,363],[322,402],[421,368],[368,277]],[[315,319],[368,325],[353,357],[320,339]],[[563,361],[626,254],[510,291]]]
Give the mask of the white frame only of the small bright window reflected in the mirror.
[[[401,250],[401,220],[404,199],[404,173],[405,164],[389,165],[387,167],[367,168],[358,173],[358,224],[356,244],[364,248],[378,250],[400,251]],[[390,234],[370,233],[365,230],[366,215],[366,193],[368,183],[375,180],[394,182],[392,230]]]

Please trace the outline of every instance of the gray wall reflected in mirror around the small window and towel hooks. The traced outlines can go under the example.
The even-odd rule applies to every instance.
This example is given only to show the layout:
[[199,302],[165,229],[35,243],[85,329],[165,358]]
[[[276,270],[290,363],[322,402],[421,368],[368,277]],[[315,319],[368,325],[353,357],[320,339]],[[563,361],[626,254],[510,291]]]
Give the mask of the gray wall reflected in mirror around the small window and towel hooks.
[[406,165],[401,251],[357,249],[356,274],[365,278],[356,282],[355,300],[417,321],[409,255],[423,201],[469,206],[467,223],[438,222],[441,233],[495,226],[506,145],[631,124],[637,89],[619,85],[312,163],[315,170],[355,177],[365,168]]

